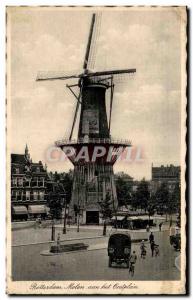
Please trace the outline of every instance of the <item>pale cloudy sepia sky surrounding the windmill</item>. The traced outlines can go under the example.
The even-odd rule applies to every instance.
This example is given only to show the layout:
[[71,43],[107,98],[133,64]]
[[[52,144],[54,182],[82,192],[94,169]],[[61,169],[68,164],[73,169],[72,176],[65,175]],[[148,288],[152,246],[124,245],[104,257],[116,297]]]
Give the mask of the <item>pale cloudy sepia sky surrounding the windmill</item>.
[[[76,80],[37,82],[36,76],[48,70],[82,72],[96,10],[8,9],[10,150],[24,153],[27,143],[33,161],[46,163],[49,171],[73,168],[61,159],[49,161],[47,154],[55,141],[69,136],[76,101],[66,84]],[[114,170],[150,179],[152,163],[180,165],[183,15],[176,8],[98,11],[102,15],[91,69],[137,70],[115,82],[111,135],[132,141],[133,159],[117,162]],[[141,161],[137,151],[142,151]]]

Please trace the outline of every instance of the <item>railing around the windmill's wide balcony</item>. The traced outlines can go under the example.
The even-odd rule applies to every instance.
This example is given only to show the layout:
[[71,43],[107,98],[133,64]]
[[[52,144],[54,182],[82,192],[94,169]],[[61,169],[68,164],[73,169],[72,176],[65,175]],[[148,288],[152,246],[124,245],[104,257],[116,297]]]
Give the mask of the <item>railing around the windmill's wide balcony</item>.
[[62,139],[55,142],[57,147],[74,144],[116,144],[131,146],[130,140],[114,139],[114,138],[79,138],[79,139]]

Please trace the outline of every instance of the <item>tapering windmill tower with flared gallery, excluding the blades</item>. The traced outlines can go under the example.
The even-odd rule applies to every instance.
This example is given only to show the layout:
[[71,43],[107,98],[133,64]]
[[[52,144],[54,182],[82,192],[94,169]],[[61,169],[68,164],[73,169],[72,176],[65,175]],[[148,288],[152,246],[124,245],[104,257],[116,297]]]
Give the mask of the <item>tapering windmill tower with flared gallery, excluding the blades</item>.
[[[113,166],[131,143],[111,138],[105,98],[110,86],[83,80],[78,138],[56,142],[74,165],[69,211],[80,224],[102,224],[101,204],[107,198],[112,209],[118,206]],[[73,151],[68,156],[69,148]]]

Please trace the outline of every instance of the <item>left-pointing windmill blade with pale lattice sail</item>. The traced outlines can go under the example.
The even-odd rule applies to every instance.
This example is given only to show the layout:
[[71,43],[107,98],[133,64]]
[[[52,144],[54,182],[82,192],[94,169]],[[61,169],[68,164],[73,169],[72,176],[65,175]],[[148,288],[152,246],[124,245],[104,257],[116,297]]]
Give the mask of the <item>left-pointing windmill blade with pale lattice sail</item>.
[[65,72],[46,72],[46,71],[40,71],[37,74],[36,81],[43,81],[43,80],[66,80],[66,79],[71,79],[71,78],[80,78],[81,74],[66,74]]

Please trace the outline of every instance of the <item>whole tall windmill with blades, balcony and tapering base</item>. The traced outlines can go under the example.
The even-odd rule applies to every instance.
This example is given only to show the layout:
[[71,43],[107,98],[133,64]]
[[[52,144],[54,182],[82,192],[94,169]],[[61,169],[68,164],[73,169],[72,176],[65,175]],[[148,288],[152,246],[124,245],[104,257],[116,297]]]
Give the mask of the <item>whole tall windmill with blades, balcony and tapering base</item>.
[[[74,180],[71,214],[77,219],[81,213],[82,223],[100,222],[100,205],[107,193],[117,207],[113,165],[123,150],[131,146],[128,141],[113,140],[110,135],[114,93],[114,77],[119,74],[133,74],[136,69],[92,71],[89,69],[90,54],[93,48],[93,35],[97,28],[96,14],[92,15],[83,71],[79,74],[53,74],[40,72],[37,81],[76,79],[77,83],[66,85],[76,98],[72,128],[69,138],[57,141],[56,145],[65,153],[70,146],[73,152],[68,156],[74,165]],[[79,88],[78,95],[74,87]],[[106,111],[106,90],[110,89],[109,118]],[[78,139],[72,140],[75,123],[80,108]],[[86,150],[87,149],[87,150]],[[110,153],[110,155],[109,155]],[[93,155],[95,160],[93,160]]]

